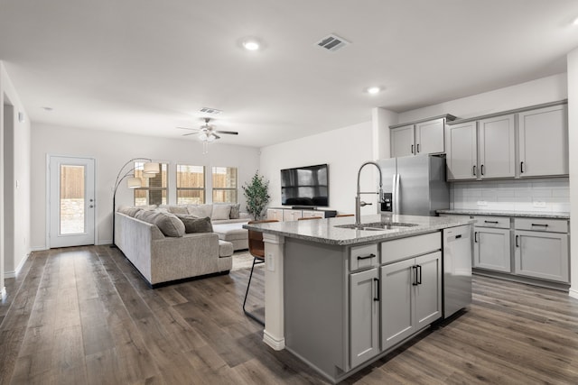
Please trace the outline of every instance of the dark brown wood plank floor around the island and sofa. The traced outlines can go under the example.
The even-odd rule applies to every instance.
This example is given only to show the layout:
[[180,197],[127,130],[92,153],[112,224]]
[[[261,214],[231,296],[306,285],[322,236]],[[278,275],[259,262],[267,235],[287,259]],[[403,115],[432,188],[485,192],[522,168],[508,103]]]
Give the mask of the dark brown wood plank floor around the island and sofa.
[[[33,252],[6,280],[0,384],[326,383],[263,344],[241,311],[248,271],[152,290],[117,249]],[[473,289],[468,311],[346,383],[578,383],[577,300],[482,277]]]

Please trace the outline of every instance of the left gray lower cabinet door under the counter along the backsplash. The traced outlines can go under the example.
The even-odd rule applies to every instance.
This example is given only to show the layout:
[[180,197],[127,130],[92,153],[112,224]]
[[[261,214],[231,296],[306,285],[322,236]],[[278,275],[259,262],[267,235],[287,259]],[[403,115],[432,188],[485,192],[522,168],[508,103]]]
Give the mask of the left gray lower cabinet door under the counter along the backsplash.
[[473,242],[473,267],[512,271],[509,230],[476,226]]

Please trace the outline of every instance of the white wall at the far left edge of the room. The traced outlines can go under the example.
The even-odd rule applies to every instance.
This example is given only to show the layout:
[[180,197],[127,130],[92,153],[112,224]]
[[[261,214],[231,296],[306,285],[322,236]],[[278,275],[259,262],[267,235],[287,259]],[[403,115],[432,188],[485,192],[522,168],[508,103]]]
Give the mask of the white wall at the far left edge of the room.
[[[30,253],[30,123],[5,66],[0,62],[3,225],[0,228],[0,280],[14,277]],[[10,116],[5,115],[6,111]],[[23,114],[23,122],[18,119]],[[5,250],[9,252],[4,252]],[[4,281],[0,281],[0,289]]]

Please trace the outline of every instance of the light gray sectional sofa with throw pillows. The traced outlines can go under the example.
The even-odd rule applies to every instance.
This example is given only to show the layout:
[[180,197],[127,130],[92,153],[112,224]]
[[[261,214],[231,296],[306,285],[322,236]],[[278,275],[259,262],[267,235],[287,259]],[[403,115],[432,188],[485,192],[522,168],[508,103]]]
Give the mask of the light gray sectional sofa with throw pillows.
[[[155,214],[139,214],[143,208],[155,210]],[[169,206],[120,207],[115,213],[115,243],[153,288],[177,280],[228,273],[233,244],[219,240],[219,234],[212,232],[182,234],[184,225],[176,218]],[[248,220],[228,218],[231,219],[238,219],[238,224]]]

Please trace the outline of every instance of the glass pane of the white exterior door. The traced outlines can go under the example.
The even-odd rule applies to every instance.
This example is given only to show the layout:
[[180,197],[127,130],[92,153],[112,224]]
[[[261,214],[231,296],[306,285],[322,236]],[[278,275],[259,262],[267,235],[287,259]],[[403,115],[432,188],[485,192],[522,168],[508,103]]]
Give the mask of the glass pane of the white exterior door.
[[61,164],[61,234],[85,232],[84,166]]

